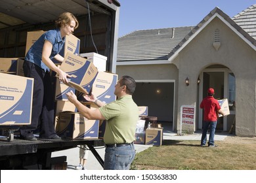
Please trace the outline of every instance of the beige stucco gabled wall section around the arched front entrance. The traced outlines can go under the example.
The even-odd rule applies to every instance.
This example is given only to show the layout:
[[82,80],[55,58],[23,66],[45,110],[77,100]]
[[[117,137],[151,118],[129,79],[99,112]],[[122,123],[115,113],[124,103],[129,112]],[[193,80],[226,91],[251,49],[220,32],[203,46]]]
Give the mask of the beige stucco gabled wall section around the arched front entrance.
[[[215,29],[220,30],[221,47],[213,47]],[[256,52],[219,18],[215,18],[173,60],[179,68],[178,115],[181,105],[196,105],[198,75],[205,67],[222,64],[236,76],[236,135],[255,136],[255,79]],[[184,84],[185,78],[190,85]]]

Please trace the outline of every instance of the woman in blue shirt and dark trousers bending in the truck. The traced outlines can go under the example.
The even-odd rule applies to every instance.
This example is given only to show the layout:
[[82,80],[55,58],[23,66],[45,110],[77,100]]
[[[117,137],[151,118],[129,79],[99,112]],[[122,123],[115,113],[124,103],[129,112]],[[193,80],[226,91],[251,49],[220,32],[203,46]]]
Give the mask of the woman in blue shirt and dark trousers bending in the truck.
[[64,12],[55,21],[56,29],[47,31],[33,44],[26,54],[23,69],[24,76],[34,78],[32,122],[20,128],[20,135],[28,141],[36,141],[33,131],[39,126],[39,139],[61,139],[54,130],[54,90],[50,69],[58,74],[64,84],[70,75],[58,68],[52,61],[64,60],[58,53],[79,23],[74,14]]

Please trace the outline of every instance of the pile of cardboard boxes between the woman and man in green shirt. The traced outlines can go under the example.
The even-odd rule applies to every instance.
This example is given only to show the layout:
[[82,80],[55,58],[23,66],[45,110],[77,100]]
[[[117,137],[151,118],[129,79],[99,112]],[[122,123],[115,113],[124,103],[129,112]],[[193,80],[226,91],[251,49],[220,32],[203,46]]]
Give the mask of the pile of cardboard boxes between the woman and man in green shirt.
[[[70,90],[75,90],[73,92],[77,95],[77,99],[89,108],[97,107],[93,103],[86,101],[83,97],[84,94],[93,92],[104,103],[110,103],[116,100],[114,87],[117,83],[117,75],[105,71],[98,71],[98,64],[100,62],[95,62],[97,60],[96,58],[91,58],[91,61],[89,61],[84,57],[67,53],[64,61],[60,65],[62,71],[72,76],[68,86],[56,82],[56,131],[61,137],[95,139],[98,137],[101,138],[104,135],[106,122],[88,120],[84,116],[81,116],[77,109],[67,110],[73,105],[66,98],[66,93],[70,92]],[[106,63],[106,60],[103,63]],[[59,107],[60,103],[64,105],[64,108]]]

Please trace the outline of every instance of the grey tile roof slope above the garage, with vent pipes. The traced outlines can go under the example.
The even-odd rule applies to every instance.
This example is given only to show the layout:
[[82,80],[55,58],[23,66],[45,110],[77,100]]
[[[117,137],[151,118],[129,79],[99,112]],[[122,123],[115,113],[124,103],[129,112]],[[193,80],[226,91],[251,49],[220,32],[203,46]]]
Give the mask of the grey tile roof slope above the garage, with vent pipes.
[[163,60],[192,27],[171,27],[134,31],[120,37],[117,61]]

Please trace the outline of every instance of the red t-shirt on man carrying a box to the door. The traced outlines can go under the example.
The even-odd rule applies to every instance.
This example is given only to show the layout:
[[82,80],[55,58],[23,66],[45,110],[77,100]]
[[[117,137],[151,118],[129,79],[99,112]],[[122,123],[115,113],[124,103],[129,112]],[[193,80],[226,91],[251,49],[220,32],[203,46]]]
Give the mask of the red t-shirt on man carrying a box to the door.
[[208,96],[203,99],[200,104],[200,108],[203,108],[203,120],[207,122],[217,121],[216,112],[221,109],[219,102],[213,98],[213,96]]

